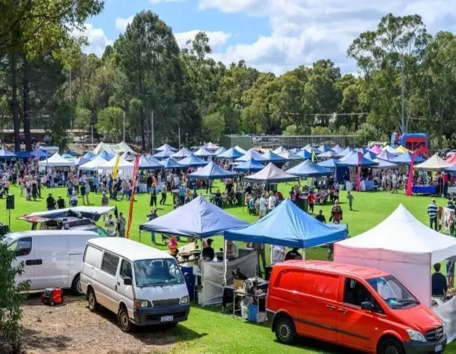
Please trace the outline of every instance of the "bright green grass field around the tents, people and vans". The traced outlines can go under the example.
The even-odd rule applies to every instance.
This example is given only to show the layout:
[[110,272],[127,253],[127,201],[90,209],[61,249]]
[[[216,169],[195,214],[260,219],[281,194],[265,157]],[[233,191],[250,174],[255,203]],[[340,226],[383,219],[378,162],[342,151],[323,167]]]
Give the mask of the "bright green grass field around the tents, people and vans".
[[[288,195],[290,185],[283,184],[279,190],[284,196]],[[24,231],[30,229],[30,224],[18,220],[17,217],[33,211],[42,211],[46,209],[45,198],[48,193],[52,192],[57,198],[59,194],[66,195],[66,189],[53,188],[42,190],[42,197],[36,202],[26,201],[25,198],[19,197],[19,189],[12,187],[10,193],[15,194],[15,210],[11,212],[11,229],[12,231]],[[205,192],[205,191],[204,191]],[[415,215],[421,222],[428,225],[427,206],[430,203],[430,197],[405,197],[403,194],[384,193],[384,192],[354,192],[354,210],[350,211],[347,204],[346,193],[340,193],[340,202],[344,210],[344,223],[348,224],[349,234],[351,237],[356,236],[364,231],[369,230],[384,220],[400,203],[403,203],[410,212]],[[101,205],[101,195],[90,194],[90,202],[93,205]],[[160,198],[159,198],[160,200]],[[117,205],[119,211],[123,211],[128,216],[128,201],[110,201],[110,205]],[[82,204],[80,199],[80,205]],[[446,205],[446,200],[437,198],[438,205]],[[7,222],[7,211],[5,202],[0,204],[0,220]],[[320,209],[316,206],[316,211]],[[328,218],[330,206],[321,207]],[[163,215],[172,210],[171,196],[168,194],[167,205],[159,205],[158,214]],[[256,218],[250,216],[247,208],[229,207],[228,212],[253,222]],[[138,227],[146,221],[146,215],[149,212],[149,196],[140,194],[136,196],[134,203],[134,217],[130,237],[138,240]],[[176,220],[176,223],[183,223],[185,220]],[[161,242],[160,235],[157,235],[157,241]],[[400,235],[398,235],[400,237]],[[151,245],[150,235],[143,233],[141,242]],[[179,245],[181,245],[180,243]],[[222,237],[214,237],[215,249],[223,244]],[[155,247],[166,249],[166,245],[158,244]],[[267,253],[268,254],[268,253]],[[327,251],[325,248],[311,248],[306,250],[306,259],[326,259]],[[275,336],[267,326],[258,326],[256,324],[246,323],[239,318],[233,318],[226,314],[219,313],[220,307],[202,308],[194,305],[188,320],[177,326],[174,331],[177,335],[178,342],[173,348],[175,352],[353,352],[344,348],[329,345],[310,339],[300,339],[294,346],[284,346],[275,341]],[[446,352],[456,352],[456,344],[450,345]]]

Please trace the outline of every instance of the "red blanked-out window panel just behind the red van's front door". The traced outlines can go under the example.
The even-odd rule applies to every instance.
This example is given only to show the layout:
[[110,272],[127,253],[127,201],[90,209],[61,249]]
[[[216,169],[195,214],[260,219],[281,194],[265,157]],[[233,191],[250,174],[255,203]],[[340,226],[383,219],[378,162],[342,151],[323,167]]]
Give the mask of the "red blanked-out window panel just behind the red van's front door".
[[339,276],[333,274],[306,272],[302,282],[303,292],[328,300],[337,299]]

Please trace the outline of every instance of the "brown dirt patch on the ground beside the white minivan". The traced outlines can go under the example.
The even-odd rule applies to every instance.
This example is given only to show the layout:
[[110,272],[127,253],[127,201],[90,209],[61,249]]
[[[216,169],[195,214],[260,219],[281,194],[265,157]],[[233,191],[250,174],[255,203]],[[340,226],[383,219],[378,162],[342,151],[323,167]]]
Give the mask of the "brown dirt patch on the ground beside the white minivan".
[[28,299],[23,308],[23,345],[27,352],[157,352],[177,341],[173,330],[136,328],[123,333],[116,316],[105,309],[91,313],[84,298],[65,297],[62,305],[47,306]]

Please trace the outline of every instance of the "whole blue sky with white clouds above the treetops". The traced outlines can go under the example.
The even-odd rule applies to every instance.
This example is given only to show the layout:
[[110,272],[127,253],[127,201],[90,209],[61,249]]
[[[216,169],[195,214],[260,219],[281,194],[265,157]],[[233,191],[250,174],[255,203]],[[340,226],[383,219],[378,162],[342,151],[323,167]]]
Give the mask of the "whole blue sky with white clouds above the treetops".
[[276,74],[328,58],[356,72],[348,46],[389,12],[419,14],[431,33],[456,30],[456,0],[106,0],[103,12],[86,21],[84,51],[100,56],[142,10],[171,26],[181,47],[203,30],[215,60],[242,59]]

